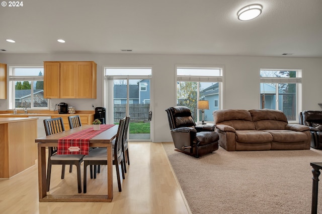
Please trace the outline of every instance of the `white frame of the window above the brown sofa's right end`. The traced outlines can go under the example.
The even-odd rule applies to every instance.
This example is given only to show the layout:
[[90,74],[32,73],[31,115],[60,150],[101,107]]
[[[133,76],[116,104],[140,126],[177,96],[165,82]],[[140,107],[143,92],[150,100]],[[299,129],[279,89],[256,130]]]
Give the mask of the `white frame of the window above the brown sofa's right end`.
[[[275,83],[276,85],[276,103],[275,108],[278,110],[279,100],[278,100],[278,84],[296,84],[296,113],[295,120],[289,120],[290,123],[298,123],[298,117],[296,115],[302,111],[302,70],[301,69],[260,69],[261,71],[295,71],[296,77],[260,77],[260,83]],[[264,92],[265,94],[265,92]],[[261,87],[260,87],[260,96],[261,96]],[[262,99],[260,98],[260,102]],[[260,108],[262,104],[260,103]]]

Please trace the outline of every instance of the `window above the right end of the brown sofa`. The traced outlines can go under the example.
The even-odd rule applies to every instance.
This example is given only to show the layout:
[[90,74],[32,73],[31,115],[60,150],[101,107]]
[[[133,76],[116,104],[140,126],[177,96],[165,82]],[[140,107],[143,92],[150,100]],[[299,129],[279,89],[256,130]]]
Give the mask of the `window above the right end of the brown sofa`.
[[261,69],[261,108],[281,110],[288,121],[301,111],[301,70]]

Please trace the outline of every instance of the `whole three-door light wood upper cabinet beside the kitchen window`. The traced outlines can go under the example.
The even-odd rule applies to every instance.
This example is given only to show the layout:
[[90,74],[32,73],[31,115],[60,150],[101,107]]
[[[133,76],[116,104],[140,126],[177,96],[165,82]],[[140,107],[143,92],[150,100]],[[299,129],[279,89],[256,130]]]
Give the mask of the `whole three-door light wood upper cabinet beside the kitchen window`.
[[[54,64],[59,65],[58,84],[51,81],[57,73]],[[95,62],[44,62],[44,97],[96,99],[96,67]]]

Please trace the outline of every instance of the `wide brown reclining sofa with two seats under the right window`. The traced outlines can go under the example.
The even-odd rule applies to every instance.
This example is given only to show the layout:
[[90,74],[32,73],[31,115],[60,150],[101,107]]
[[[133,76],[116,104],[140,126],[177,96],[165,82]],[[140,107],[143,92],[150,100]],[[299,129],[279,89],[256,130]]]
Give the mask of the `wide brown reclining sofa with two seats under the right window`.
[[310,149],[309,128],[288,124],[279,110],[217,110],[213,118],[219,145],[227,151]]

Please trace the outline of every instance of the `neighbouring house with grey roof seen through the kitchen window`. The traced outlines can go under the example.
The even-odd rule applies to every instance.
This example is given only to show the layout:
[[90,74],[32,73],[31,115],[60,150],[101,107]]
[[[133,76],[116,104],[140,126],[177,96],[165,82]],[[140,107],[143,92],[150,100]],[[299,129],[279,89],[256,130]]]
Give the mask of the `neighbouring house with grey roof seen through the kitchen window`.
[[[47,99],[44,99],[43,89],[34,89],[34,107],[46,107]],[[27,108],[31,107],[31,93],[30,89],[15,90],[15,102],[16,107],[21,106],[21,102],[25,100],[27,103]]]

